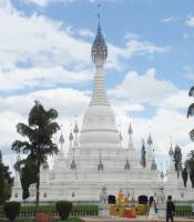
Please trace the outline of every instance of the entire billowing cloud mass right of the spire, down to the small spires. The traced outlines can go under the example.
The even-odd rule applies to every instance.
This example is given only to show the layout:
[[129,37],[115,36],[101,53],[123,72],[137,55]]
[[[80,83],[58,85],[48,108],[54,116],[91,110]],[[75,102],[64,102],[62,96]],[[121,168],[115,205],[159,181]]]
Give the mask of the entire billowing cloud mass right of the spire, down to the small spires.
[[[113,100],[116,124],[122,125],[125,147],[127,145],[129,115],[132,114],[133,139],[137,152],[141,149],[141,139],[147,139],[150,131],[154,140],[157,161],[164,162],[164,159],[167,161],[171,135],[173,145],[178,144],[182,148],[184,158],[192,149],[188,132],[193,129],[193,122],[186,119],[186,109],[191,103],[191,98],[186,90],[177,89],[170,81],[159,80],[153,68],[143,75],[135,71],[129,72],[123,82],[111,90],[110,94],[116,98]],[[143,105],[144,103],[154,105],[154,113],[151,117],[146,114],[136,117],[140,111],[144,113],[149,111],[149,108]],[[133,104],[137,105],[134,112],[130,110]]]

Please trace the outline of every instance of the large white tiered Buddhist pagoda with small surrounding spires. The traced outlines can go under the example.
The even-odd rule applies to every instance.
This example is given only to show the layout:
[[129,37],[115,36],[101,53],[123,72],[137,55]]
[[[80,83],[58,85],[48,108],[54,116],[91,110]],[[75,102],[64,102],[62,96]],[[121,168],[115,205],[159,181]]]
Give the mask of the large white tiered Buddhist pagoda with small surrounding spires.
[[[173,149],[170,149],[171,164],[167,180],[157,170],[151,134],[146,142],[146,167],[140,164],[136,149],[133,145],[133,129],[129,125],[129,143],[121,145],[121,134],[116,129],[114,112],[106,99],[103,65],[108,57],[108,48],[99,23],[95,40],[92,46],[92,61],[95,65],[94,88],[91,101],[83,117],[81,131],[78,124],[70,133],[69,153],[63,152],[64,139],[61,132],[60,154],[52,170],[45,163],[41,168],[40,201],[55,202],[70,200],[80,202],[106,201],[109,195],[118,194],[124,189],[126,196],[140,200],[141,196],[166,198],[174,200],[194,200],[194,192],[188,181],[184,188],[183,181],[174,170]],[[19,174],[12,188],[12,200],[21,200]],[[31,195],[28,201],[33,201]]]

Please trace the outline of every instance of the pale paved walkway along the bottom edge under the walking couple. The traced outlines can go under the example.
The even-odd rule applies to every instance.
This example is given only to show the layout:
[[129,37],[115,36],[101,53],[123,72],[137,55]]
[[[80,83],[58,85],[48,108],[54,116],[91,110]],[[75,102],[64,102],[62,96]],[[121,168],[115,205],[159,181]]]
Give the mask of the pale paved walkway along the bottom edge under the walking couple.
[[[116,218],[116,216],[94,216],[94,218],[82,218],[84,222],[146,222],[146,216],[137,216],[136,219]],[[165,222],[164,219],[157,220],[157,222]],[[174,222],[194,222],[194,219],[174,218]]]

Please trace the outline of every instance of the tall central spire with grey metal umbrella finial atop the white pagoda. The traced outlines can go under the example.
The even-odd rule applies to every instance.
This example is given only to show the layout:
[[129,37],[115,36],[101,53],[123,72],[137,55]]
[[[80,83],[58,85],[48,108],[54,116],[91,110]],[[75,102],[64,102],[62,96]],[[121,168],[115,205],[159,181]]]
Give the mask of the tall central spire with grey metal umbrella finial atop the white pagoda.
[[[100,9],[100,2],[98,6]],[[108,58],[108,47],[105,44],[105,40],[101,31],[100,10],[98,13],[98,18],[99,18],[98,32],[91,50],[92,61],[95,64],[96,71],[94,77],[93,95],[90,105],[109,105],[104,89],[104,73],[103,73],[103,64],[105,63],[105,60]]]

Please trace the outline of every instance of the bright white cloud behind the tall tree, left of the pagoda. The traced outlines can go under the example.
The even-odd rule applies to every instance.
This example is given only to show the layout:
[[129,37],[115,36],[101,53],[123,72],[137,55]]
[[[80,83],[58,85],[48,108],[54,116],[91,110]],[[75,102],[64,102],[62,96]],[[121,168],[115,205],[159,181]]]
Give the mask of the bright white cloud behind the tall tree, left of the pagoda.
[[[27,122],[28,113],[34,100],[39,100],[45,109],[54,108],[59,112],[60,124],[63,124],[65,140],[71,130],[74,117],[81,121],[83,110],[89,103],[89,97],[83,92],[72,89],[42,90],[33,93],[0,98],[0,148],[3,153],[10,153],[12,142],[20,138],[16,132],[18,122]],[[68,141],[67,141],[68,142]]]

